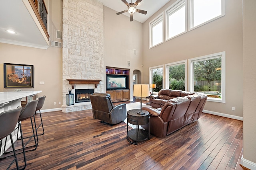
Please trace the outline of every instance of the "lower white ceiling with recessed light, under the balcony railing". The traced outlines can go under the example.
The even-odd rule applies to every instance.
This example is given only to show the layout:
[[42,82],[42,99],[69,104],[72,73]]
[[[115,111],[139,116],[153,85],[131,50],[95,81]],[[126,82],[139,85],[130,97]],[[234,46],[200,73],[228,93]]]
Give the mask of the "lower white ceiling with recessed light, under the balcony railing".
[[[22,0],[1,0],[0,15],[1,43],[47,49],[47,42]],[[16,34],[10,34],[6,29]]]

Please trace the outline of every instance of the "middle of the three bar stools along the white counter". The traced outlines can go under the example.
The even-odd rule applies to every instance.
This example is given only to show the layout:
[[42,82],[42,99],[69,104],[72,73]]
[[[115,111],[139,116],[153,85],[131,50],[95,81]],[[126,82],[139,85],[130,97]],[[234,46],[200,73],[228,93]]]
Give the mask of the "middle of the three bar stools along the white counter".
[[[25,152],[36,150],[36,148],[37,148],[37,143],[36,143],[37,131],[35,133],[34,126],[33,126],[33,121],[32,121],[32,116],[34,117],[34,113],[35,113],[37,104],[38,104],[38,99],[28,102],[26,104],[26,106],[24,107],[24,109],[20,112],[20,116],[18,118],[18,132],[20,131],[20,139],[22,141],[22,149],[24,150],[24,158],[25,158]],[[24,121],[24,120],[29,119],[29,118],[30,118],[30,121],[31,121],[31,127],[32,127],[33,134],[30,137],[23,137],[21,121]],[[34,119],[35,119],[35,117],[34,117]],[[34,124],[35,124],[35,129],[36,129],[36,122],[34,122]],[[17,136],[18,136],[18,133],[17,133]],[[23,139],[27,139],[27,138],[29,138],[29,139],[24,144]],[[32,138],[34,138],[35,145],[26,147]],[[26,149],[31,148],[31,147],[34,147],[34,149],[26,150]],[[18,150],[21,150],[21,149],[16,149],[16,151],[18,151]],[[8,154],[10,152],[12,152],[12,151],[9,151],[9,152],[6,151],[6,143],[5,143],[5,145],[4,145],[4,154]],[[16,154],[20,154],[20,153],[22,153],[22,152],[16,152]],[[9,156],[6,156],[6,157],[9,157]],[[26,164],[26,158],[24,159],[24,162]]]

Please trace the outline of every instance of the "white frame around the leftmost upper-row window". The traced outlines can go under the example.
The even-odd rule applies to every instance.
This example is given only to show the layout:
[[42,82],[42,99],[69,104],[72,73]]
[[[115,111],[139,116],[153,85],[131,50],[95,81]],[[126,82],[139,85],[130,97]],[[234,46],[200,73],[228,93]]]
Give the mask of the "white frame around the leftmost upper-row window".
[[[162,21],[162,42],[160,42],[156,45],[153,45],[153,41],[152,41],[153,26],[156,25],[157,23],[160,23],[161,21]],[[152,21],[150,21],[148,26],[149,26],[149,49],[164,43],[164,12],[162,12],[156,18],[154,18]]]

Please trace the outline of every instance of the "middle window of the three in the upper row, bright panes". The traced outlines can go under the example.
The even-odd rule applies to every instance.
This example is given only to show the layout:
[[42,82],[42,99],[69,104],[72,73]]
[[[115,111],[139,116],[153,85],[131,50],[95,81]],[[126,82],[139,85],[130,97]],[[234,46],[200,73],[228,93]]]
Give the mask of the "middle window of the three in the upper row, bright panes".
[[186,32],[186,22],[186,3],[181,0],[166,10],[166,39]]

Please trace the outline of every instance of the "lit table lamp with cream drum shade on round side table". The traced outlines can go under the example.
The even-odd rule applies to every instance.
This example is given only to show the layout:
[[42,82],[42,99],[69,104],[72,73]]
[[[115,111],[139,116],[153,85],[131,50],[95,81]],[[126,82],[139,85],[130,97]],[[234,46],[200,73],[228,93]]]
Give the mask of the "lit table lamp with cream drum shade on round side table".
[[140,97],[140,112],[139,115],[144,115],[145,113],[142,112],[142,97],[148,97],[149,94],[149,85],[148,84],[134,84],[133,86],[133,96]]

